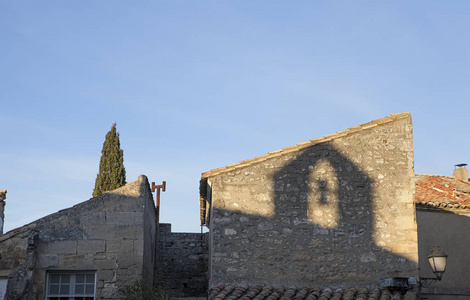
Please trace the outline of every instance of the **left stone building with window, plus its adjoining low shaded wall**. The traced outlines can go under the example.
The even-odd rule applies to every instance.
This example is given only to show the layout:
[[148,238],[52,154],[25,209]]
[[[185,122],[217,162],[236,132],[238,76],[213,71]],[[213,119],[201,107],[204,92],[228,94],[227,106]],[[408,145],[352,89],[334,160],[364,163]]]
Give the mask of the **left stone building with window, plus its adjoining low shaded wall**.
[[[5,198],[0,191],[0,208]],[[141,175],[0,234],[0,300],[119,299],[140,279],[173,297],[207,296],[207,234],[174,233],[157,219]]]

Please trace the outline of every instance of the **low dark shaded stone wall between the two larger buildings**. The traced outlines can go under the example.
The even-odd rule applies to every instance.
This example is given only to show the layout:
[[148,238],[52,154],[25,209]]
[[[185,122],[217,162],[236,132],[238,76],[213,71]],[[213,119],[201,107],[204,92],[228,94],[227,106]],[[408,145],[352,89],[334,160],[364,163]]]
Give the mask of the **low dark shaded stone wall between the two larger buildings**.
[[207,297],[207,233],[172,233],[160,224],[156,286],[173,297]]

